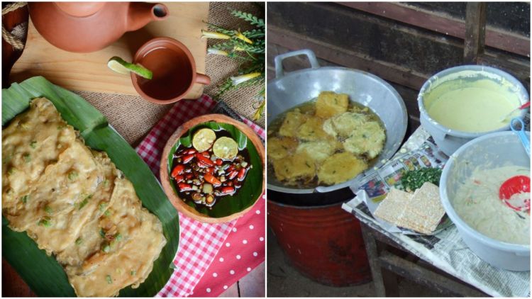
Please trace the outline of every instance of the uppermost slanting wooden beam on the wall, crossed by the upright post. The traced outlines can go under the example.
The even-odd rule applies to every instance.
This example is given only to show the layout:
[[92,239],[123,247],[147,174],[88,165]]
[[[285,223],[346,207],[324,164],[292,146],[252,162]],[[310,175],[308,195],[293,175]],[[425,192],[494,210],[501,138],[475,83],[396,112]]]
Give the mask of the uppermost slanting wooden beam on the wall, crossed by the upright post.
[[[338,2],[338,4],[455,38],[465,39],[465,22],[443,13],[434,13],[408,4],[389,2]],[[506,30],[488,26],[486,28],[486,45],[530,57],[530,38]]]

